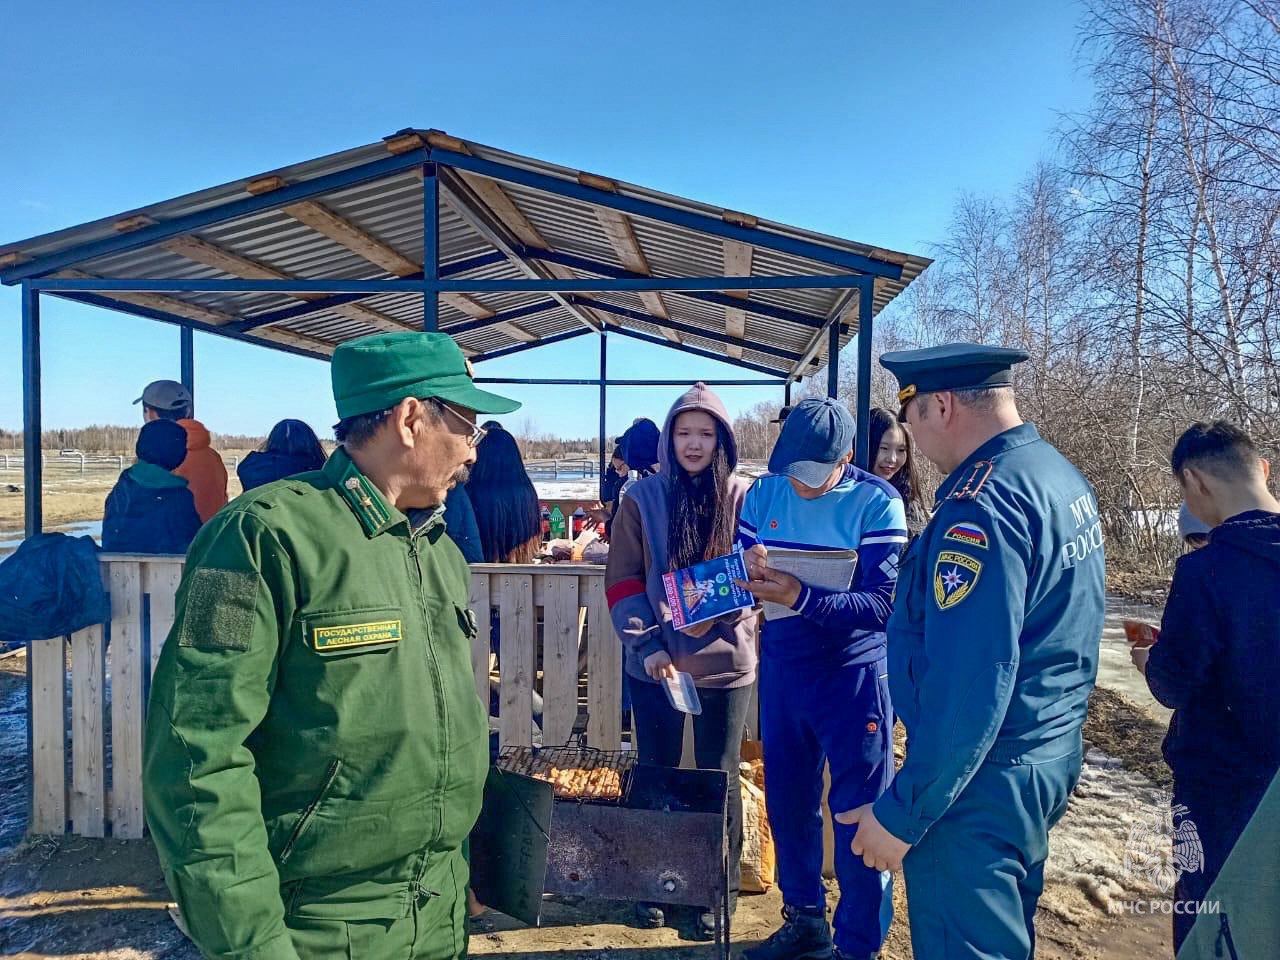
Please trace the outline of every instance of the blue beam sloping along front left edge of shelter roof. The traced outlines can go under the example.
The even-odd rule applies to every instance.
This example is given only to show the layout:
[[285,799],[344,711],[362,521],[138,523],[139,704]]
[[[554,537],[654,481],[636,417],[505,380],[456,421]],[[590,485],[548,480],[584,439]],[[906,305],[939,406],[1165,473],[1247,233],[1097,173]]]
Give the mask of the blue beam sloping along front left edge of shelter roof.
[[17,283],[18,280],[40,276],[64,266],[72,266],[73,264],[79,264],[86,260],[93,260],[95,257],[138,250],[140,247],[146,247],[152,243],[169,239],[170,237],[178,237],[183,233],[193,233],[195,230],[201,230],[206,227],[212,227],[214,224],[234,220],[238,216],[248,216],[250,214],[256,214],[262,210],[274,210],[276,207],[285,206],[287,204],[296,204],[300,200],[310,200],[311,197],[352,187],[357,183],[367,183],[369,180],[376,180],[403,170],[410,170],[426,163],[428,159],[428,151],[425,148],[410,150],[404,154],[397,154],[394,156],[387,156],[380,160],[361,164],[360,166],[353,166],[349,170],[339,170],[338,173],[330,173],[325,177],[316,177],[310,180],[303,180],[302,183],[280,187],[279,189],[273,189],[268,193],[260,193],[242,200],[233,200],[207,210],[198,210],[193,214],[187,214],[186,216],[175,216],[173,220],[163,220],[129,233],[120,233],[113,237],[90,241],[87,243],[78,243],[74,247],[68,247],[67,250],[58,251],[56,253],[47,253],[42,257],[36,257],[35,260],[28,260],[27,262],[12,266],[5,271],[0,271],[0,282]]

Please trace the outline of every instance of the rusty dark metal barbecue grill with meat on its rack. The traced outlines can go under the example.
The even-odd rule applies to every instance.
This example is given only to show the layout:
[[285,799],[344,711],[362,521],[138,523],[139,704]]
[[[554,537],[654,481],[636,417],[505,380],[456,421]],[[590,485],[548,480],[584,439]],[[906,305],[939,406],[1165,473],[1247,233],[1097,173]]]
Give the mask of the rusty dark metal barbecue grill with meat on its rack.
[[[620,791],[570,796],[547,780],[553,769],[596,785],[593,773],[614,771]],[[727,787],[723,771],[652,767],[625,751],[503,748],[471,835],[471,886],[532,925],[544,893],[709,909],[728,960]]]

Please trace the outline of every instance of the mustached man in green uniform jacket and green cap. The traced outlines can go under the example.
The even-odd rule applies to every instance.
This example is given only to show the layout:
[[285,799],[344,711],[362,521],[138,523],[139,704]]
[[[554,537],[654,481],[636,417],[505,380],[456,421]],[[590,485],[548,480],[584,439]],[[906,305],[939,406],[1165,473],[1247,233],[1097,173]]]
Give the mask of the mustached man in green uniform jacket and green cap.
[[[196,538],[151,689],[147,823],[206,957],[453,959],[488,768],[440,504],[476,389],[449,337],[334,351],[342,447]],[[412,520],[411,520],[412,517]]]

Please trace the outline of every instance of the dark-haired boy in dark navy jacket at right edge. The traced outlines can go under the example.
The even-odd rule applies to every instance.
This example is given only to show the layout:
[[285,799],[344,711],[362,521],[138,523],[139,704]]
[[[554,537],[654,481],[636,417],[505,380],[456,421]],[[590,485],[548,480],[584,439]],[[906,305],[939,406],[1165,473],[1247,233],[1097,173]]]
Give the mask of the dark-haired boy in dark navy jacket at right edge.
[[[1160,637],[1133,659],[1174,710],[1174,950],[1280,769],[1280,502],[1268,465],[1236,426],[1196,424],[1174,447],[1174,476],[1208,543],[1178,561]],[[1193,824],[1193,826],[1189,826]],[[1188,838],[1194,833],[1198,863]]]

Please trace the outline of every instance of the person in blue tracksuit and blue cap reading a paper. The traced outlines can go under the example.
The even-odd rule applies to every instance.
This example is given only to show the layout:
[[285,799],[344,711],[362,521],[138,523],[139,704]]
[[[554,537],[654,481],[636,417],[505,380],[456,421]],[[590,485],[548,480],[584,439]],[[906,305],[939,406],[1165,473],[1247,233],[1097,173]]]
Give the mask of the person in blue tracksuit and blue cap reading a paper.
[[[849,463],[854,419],[833,399],[805,399],[787,416],[769,476],[748,492],[739,541],[765,609],[760,643],[764,792],[778,855],[783,924],[748,960],[873,957],[893,915],[890,874],[864,865],[837,827],[835,954],[822,886],[822,771],[832,810],[876,800],[893,771],[893,712],[884,623],[906,544],[902,499]],[[801,582],[769,566],[782,550],[856,554],[851,582]],[[838,564],[840,561],[835,559]]]

